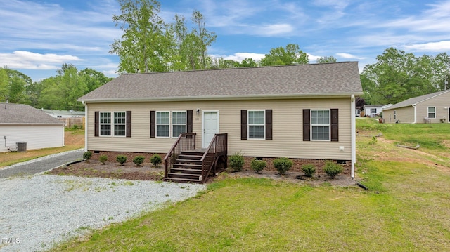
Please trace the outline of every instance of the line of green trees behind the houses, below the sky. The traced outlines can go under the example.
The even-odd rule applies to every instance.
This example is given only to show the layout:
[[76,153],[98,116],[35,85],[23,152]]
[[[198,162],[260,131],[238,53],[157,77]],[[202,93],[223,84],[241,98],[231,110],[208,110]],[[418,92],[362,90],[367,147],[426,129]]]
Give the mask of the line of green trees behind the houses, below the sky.
[[[217,35],[206,29],[205,17],[193,11],[186,18],[174,15],[174,22],[160,18],[156,0],[117,0],[120,15],[113,21],[123,35],[111,44],[110,53],[120,58],[117,72],[168,72],[233,67],[308,64],[307,53],[298,44],[271,48],[261,60],[245,58],[241,62],[214,58],[207,49]],[[333,56],[321,57],[317,63],[337,62]],[[387,48],[377,62],[361,72],[364,95],[359,105],[397,103],[408,98],[441,91],[449,76],[450,57],[446,53],[416,57],[413,53]],[[95,69],[63,64],[56,76],[34,82],[17,70],[0,68],[0,102],[29,104],[53,110],[84,110],[77,98],[110,81]]]

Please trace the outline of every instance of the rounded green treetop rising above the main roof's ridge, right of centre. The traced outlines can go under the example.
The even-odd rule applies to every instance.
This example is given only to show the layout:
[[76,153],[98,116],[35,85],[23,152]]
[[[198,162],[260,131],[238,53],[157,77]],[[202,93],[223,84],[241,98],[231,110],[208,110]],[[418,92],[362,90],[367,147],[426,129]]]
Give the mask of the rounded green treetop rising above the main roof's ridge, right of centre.
[[297,44],[288,44],[285,48],[282,46],[271,48],[269,54],[266,54],[261,60],[262,66],[270,65],[293,65],[308,64],[308,55],[300,50]]

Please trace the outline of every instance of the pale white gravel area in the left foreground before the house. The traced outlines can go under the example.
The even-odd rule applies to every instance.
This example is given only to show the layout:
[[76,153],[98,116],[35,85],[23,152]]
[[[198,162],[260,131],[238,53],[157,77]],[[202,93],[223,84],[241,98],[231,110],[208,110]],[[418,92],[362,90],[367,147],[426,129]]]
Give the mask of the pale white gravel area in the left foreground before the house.
[[0,178],[0,251],[45,251],[89,228],[122,222],[205,189],[42,173]]

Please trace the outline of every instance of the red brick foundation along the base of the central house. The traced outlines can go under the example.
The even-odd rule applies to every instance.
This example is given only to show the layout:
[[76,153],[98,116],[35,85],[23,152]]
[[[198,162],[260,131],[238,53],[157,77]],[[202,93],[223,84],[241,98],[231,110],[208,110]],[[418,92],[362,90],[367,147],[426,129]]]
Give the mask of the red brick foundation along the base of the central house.
[[[93,151],[92,151],[93,152]],[[118,155],[124,155],[127,157],[127,162],[132,162],[134,157],[136,156],[143,156],[146,159],[144,159],[144,163],[150,163],[150,157],[153,156],[153,154],[159,154],[162,159],[166,156],[166,153],[148,153],[148,152],[98,152],[94,153],[91,157],[93,160],[98,160],[98,157],[101,155],[106,155],[108,157],[108,161],[115,162],[115,159]],[[244,163],[244,169],[250,170],[250,163],[252,162],[252,159],[255,157],[244,157],[245,163]],[[276,171],[276,168],[274,167],[273,161],[276,159],[276,157],[263,157],[262,160],[266,161],[267,166],[264,168],[264,171]],[[325,166],[326,161],[333,161],[333,163],[337,163],[337,160],[325,160],[325,159],[290,159],[294,162],[294,165],[292,168],[290,168],[289,171],[292,172],[300,172],[302,173],[302,166],[305,164],[312,164],[316,168],[316,175],[326,175],[326,173],[323,171],[323,166]],[[162,161],[164,165],[164,160]],[[342,174],[344,175],[351,175],[352,173],[352,161],[350,160],[343,160],[342,163],[345,162],[345,164],[340,164],[342,166],[343,171]]]

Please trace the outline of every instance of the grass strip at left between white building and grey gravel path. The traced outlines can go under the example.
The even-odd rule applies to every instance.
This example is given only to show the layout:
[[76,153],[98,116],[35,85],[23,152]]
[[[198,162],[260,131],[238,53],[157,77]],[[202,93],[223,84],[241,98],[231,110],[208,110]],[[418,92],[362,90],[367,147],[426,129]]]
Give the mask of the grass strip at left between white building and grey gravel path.
[[40,150],[27,150],[27,152],[0,152],[0,168],[11,166],[23,161],[44,157],[49,154],[77,150],[84,147],[84,130],[65,128],[64,147],[46,148]]

